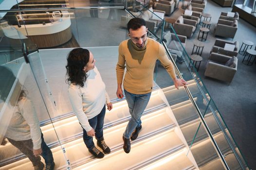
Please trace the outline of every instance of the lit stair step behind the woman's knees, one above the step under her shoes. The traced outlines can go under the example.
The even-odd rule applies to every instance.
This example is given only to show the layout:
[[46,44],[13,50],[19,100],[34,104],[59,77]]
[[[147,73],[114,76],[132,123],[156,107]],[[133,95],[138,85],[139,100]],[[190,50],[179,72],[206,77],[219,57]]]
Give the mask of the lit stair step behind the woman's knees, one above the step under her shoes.
[[[158,95],[158,89],[155,89],[152,92],[151,98],[148,102],[148,105],[145,109],[144,113],[149,112],[150,110],[163,107],[165,103]],[[104,127],[110,127],[118,122],[124,122],[130,118],[128,105],[126,100],[121,102],[116,102],[113,104],[113,109],[111,111],[106,111],[106,116],[104,120]],[[54,127],[51,123],[48,123],[44,126],[41,126],[42,133],[44,134],[45,142],[50,147],[56,147],[59,145],[58,138],[55,134],[55,131],[61,141],[61,143],[73,140],[79,136],[82,136],[82,128],[79,124],[75,115],[70,116],[66,119],[60,119],[58,121],[54,121]],[[70,128],[72,127],[72,128]],[[21,153],[16,147],[7,143],[5,146],[0,146],[0,165],[6,164],[13,159],[17,159],[19,157],[23,157],[24,154]]]

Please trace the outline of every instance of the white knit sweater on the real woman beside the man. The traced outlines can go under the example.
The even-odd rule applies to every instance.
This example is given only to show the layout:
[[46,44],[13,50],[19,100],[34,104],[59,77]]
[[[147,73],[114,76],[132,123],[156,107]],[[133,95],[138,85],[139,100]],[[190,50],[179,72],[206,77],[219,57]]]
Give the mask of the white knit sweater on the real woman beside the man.
[[87,75],[83,87],[71,84],[68,93],[77,119],[88,132],[91,130],[88,119],[97,116],[105,103],[110,103],[110,98],[98,69],[93,68],[87,72]]

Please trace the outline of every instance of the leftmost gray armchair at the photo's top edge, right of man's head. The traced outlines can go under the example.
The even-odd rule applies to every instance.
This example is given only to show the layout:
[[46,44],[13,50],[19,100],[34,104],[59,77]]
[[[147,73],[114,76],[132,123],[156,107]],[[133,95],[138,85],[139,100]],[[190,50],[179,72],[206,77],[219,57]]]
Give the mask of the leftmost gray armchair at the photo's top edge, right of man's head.
[[154,8],[156,10],[165,11],[165,15],[169,16],[174,11],[175,2],[174,0],[159,0],[159,3],[156,3]]

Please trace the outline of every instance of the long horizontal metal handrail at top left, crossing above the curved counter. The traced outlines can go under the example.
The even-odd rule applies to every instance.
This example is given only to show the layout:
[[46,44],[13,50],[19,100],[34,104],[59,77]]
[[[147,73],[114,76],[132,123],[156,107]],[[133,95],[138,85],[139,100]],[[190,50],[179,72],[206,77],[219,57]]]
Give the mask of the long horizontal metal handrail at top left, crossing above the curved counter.
[[84,9],[124,9],[124,6],[89,6],[89,7],[71,7],[71,8],[34,8],[34,9],[9,9],[0,10],[4,12],[27,12],[27,11],[56,11],[56,10],[84,10]]

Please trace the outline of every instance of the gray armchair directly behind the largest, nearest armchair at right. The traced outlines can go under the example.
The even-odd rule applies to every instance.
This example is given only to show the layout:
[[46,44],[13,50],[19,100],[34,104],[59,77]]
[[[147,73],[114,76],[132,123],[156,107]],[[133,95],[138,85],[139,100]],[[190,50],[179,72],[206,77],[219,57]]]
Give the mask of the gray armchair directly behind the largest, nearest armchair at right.
[[[235,45],[234,51],[224,50],[225,44]],[[231,41],[226,41],[226,40],[222,40],[222,39],[216,39],[215,43],[213,45],[213,48],[211,50],[211,53],[215,52],[215,53],[224,54],[224,55],[232,57],[232,56],[237,56],[238,55],[238,49],[239,49],[238,41],[231,42]]]

